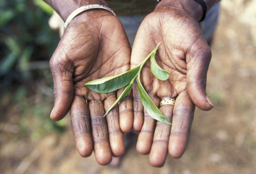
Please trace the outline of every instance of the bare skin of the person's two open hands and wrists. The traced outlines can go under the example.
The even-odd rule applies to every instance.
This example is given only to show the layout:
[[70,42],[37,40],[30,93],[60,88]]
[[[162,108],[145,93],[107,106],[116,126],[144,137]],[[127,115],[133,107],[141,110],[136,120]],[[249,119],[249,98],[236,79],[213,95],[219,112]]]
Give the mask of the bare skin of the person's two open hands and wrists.
[[[46,2],[63,20],[79,6],[106,5],[99,0]],[[206,3],[209,8],[214,4],[213,0]],[[150,154],[152,166],[163,166],[168,152],[175,158],[184,153],[195,105],[203,110],[212,108],[205,94],[211,51],[197,24],[201,15],[200,6],[189,0],[161,1],[143,20],[132,55],[122,24],[113,14],[106,10],[88,10],[72,19],[50,61],[55,97],[51,119],[60,120],[70,110],[79,154],[88,157],[94,150],[97,162],[108,164],[112,156],[124,154],[123,132],[129,132],[132,127],[140,132],[138,152]],[[156,123],[143,111],[136,85],[134,118],[131,97],[122,100],[102,118],[122,90],[95,93],[84,83],[129,70],[130,64],[138,65],[159,42],[162,43],[156,55],[157,63],[170,72],[170,78],[157,80],[147,64],[141,81],[157,106],[162,97],[177,98],[174,107],[160,108],[172,125]]]

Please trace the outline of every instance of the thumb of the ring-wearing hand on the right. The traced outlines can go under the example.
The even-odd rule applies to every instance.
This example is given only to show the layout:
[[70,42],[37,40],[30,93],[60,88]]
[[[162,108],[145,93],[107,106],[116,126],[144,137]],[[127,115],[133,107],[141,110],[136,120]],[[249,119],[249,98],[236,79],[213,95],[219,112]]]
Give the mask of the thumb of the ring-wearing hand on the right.
[[205,91],[207,70],[211,61],[211,49],[204,38],[197,40],[193,44],[186,58],[188,63],[187,85],[189,96],[197,107],[208,111],[213,107]]

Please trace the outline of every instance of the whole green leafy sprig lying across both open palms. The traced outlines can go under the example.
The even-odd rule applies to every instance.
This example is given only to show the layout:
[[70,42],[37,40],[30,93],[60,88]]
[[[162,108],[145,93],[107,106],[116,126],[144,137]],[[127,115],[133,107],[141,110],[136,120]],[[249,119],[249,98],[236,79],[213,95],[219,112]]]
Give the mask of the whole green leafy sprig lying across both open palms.
[[152,116],[152,118],[156,119],[159,122],[164,122],[171,124],[169,120],[161,113],[161,111],[158,109],[158,107],[154,104],[154,102],[150,99],[150,97],[147,94],[147,91],[143,88],[143,85],[140,81],[140,74],[143,66],[150,58],[150,69],[152,73],[157,77],[157,79],[160,79],[162,81],[165,81],[169,77],[169,73],[166,70],[163,70],[156,62],[156,52],[159,47],[160,43],[156,46],[156,48],[148,54],[148,56],[135,68],[132,68],[131,70],[124,72],[119,75],[114,75],[110,77],[104,77],[101,79],[96,79],[94,81],[90,81],[86,83],[85,85],[90,88],[90,90],[96,91],[98,93],[109,93],[111,91],[118,90],[120,88],[123,88],[126,86],[125,90],[122,92],[122,94],[116,99],[116,101],[113,103],[111,107],[109,107],[108,111],[106,111],[106,116],[113,107],[118,104],[122,99],[124,99],[127,95],[129,95],[132,84],[134,83],[134,80],[136,79],[138,84],[138,90],[141,97],[141,102],[143,106],[145,107],[145,110],[147,111],[148,115]]

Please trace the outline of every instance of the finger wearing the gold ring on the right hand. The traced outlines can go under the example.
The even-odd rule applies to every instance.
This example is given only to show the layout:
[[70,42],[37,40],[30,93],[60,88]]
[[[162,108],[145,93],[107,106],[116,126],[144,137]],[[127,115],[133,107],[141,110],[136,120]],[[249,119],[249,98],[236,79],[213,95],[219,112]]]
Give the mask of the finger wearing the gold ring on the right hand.
[[[173,106],[161,106],[160,111],[171,122]],[[168,154],[168,140],[170,137],[170,129],[171,125],[163,122],[157,122],[153,144],[149,154],[149,162],[152,166],[161,167],[166,160],[166,156]]]

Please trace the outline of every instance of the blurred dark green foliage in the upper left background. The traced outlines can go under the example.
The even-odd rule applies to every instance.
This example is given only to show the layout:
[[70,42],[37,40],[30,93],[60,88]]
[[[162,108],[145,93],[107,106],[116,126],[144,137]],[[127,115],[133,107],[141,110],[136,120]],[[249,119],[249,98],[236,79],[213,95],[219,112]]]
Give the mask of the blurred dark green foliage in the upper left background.
[[36,77],[31,62],[49,60],[59,40],[48,25],[51,10],[42,0],[0,0],[0,79],[5,88],[13,80]]

